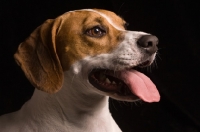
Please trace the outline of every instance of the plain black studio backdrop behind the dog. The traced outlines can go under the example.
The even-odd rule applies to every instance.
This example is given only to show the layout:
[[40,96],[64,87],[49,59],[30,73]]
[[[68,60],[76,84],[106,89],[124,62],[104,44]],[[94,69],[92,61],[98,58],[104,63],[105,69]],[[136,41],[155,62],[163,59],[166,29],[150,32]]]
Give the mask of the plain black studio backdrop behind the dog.
[[46,19],[69,10],[102,8],[129,23],[129,30],[159,38],[157,67],[147,74],[161,94],[159,103],[110,100],[124,132],[200,131],[200,13],[189,0],[1,0],[0,115],[18,110],[34,88],[13,59],[20,42]]

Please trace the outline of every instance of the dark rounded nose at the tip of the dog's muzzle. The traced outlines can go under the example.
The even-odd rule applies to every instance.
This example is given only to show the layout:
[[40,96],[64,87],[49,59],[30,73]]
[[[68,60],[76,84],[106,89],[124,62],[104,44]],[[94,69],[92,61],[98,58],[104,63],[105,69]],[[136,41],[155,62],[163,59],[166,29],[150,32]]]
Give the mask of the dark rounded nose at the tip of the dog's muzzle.
[[153,54],[158,50],[158,38],[153,35],[143,35],[141,36],[137,44],[139,47],[143,48],[147,53]]

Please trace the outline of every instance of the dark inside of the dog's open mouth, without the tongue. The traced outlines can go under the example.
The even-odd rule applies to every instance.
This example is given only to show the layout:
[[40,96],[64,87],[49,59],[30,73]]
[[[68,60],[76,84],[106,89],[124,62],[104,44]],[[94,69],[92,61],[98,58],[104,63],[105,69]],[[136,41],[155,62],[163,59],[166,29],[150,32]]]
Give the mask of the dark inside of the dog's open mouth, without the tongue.
[[[136,67],[126,68],[124,70],[135,70],[150,66],[150,61],[145,61]],[[140,100],[119,77],[120,71],[110,69],[93,69],[89,75],[88,80],[98,90],[102,91],[111,98],[121,101],[137,101]]]

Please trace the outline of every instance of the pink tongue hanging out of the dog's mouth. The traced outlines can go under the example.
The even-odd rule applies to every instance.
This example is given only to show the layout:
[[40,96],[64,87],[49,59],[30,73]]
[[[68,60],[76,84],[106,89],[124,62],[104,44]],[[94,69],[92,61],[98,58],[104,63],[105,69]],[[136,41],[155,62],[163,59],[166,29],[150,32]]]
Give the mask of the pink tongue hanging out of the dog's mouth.
[[123,71],[120,78],[124,80],[132,93],[146,102],[158,102],[160,94],[153,82],[144,74],[136,71]]

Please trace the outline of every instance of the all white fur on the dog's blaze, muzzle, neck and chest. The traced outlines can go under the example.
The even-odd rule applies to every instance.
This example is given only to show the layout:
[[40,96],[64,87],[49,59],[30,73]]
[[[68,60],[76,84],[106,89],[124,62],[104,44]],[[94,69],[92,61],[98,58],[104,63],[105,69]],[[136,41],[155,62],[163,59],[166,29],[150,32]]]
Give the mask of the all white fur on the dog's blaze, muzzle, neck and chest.
[[[123,30],[105,14],[86,10],[100,14],[116,29]],[[59,92],[48,94],[35,89],[32,98],[19,111],[0,118],[0,131],[121,132],[109,112],[108,96],[131,100],[97,90],[88,82],[88,73],[93,68],[120,70],[154,59],[155,55],[145,56],[136,45],[137,39],[146,33],[124,32],[124,40],[112,53],[88,56],[74,63],[64,73]]]

